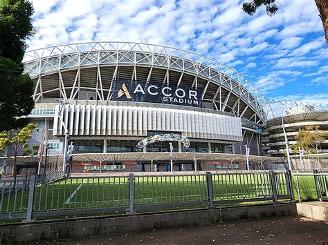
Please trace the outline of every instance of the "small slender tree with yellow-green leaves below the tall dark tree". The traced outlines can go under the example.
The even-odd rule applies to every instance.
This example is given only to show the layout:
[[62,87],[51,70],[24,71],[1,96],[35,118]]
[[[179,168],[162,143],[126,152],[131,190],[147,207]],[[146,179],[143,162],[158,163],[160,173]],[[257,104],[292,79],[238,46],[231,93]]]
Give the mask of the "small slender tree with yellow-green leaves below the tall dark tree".
[[0,151],[12,149],[14,151],[14,163],[12,164],[12,176],[16,175],[17,155],[19,150],[26,146],[28,139],[32,136],[33,130],[37,128],[37,124],[28,124],[21,130],[9,130],[0,133]]

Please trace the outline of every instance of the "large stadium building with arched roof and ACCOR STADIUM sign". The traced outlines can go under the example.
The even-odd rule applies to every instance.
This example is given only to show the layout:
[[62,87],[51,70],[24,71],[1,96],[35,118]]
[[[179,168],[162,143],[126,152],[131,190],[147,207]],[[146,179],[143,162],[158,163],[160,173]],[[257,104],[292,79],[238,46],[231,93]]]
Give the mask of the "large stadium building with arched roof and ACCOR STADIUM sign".
[[274,161],[261,156],[264,96],[215,60],[166,46],[93,42],[28,51],[24,66],[35,81],[32,140],[41,142],[44,129],[53,169],[61,168],[65,145],[80,173],[246,168],[246,148],[250,168]]

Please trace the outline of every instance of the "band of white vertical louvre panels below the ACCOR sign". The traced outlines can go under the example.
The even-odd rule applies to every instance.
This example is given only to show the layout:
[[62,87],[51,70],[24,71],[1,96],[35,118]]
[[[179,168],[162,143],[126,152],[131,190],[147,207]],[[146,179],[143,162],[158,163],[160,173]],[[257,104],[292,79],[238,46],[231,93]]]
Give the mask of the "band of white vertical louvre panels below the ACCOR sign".
[[[59,107],[56,108],[54,121],[57,121],[58,126]],[[163,130],[181,132],[192,138],[242,140],[240,118],[206,112],[134,106],[72,105],[64,107],[63,116],[70,135],[146,136],[147,130]],[[60,128],[64,135],[63,127]],[[54,130],[60,135],[57,131]]]

